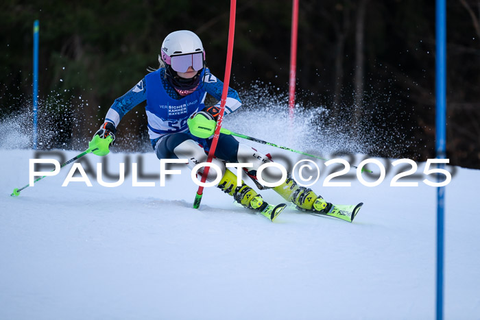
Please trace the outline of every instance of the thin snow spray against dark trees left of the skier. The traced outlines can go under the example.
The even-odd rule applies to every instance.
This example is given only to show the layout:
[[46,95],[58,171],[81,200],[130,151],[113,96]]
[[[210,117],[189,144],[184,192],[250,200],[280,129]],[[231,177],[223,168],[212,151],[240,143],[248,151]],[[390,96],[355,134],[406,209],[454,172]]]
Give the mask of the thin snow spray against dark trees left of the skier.
[[[1,85],[1,84],[0,84]],[[38,99],[37,149],[84,149],[104,121],[106,111],[93,105],[78,90],[56,88]],[[85,90],[83,90],[85,91]],[[5,98],[5,99],[2,99]],[[5,102],[8,101],[8,102]],[[140,123],[145,112],[132,111],[129,119]],[[16,93],[0,97],[0,149],[29,149],[33,146],[33,110],[31,95]],[[130,130],[117,138],[121,151],[149,151],[152,149],[145,134]]]

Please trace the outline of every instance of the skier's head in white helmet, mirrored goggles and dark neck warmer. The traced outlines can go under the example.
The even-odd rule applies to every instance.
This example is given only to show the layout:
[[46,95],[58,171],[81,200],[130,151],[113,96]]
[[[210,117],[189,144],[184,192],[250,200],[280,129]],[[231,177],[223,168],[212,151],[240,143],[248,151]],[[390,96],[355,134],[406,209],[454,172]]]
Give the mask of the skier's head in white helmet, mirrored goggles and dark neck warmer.
[[[160,63],[165,64],[165,75],[173,88],[190,90],[200,83],[200,73],[205,66],[205,51],[202,40],[188,30],[172,32],[162,43]],[[191,66],[197,75],[191,79],[178,76]]]

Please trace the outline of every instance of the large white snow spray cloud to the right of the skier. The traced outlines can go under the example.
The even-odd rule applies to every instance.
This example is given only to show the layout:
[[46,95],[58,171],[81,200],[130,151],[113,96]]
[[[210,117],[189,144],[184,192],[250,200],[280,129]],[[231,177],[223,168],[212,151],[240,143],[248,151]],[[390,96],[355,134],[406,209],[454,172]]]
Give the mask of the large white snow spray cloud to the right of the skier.
[[402,127],[400,121],[394,126],[385,125],[387,118],[409,119],[409,114],[397,114],[398,110],[386,106],[385,101],[393,99],[389,96],[364,95],[363,112],[355,119],[357,108],[341,102],[342,99],[334,102],[318,93],[300,92],[292,125],[286,90],[257,81],[239,90],[239,96],[242,108],[226,116],[223,123],[234,132],[274,143],[287,141],[288,145],[308,153],[334,157],[363,153],[400,158],[406,150],[415,149],[416,143],[409,137],[411,128]]

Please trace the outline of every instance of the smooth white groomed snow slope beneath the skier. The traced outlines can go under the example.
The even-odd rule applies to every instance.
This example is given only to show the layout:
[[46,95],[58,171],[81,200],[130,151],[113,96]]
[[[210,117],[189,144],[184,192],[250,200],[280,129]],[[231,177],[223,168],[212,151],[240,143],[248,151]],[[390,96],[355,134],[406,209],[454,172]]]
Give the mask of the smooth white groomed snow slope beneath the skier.
[[[0,319],[435,317],[436,190],[424,176],[418,187],[390,187],[389,171],[380,186],[335,188],[321,175],[313,189],[328,201],[365,203],[354,223],[293,208],[271,223],[215,188],[193,209],[187,169],[165,187],[132,187],[131,174],[115,188],[95,177],[62,187],[69,165],[10,197],[34,152],[0,152]],[[153,153],[110,153],[108,171],[139,156],[158,175]],[[446,188],[445,319],[480,315],[479,180],[457,168]]]

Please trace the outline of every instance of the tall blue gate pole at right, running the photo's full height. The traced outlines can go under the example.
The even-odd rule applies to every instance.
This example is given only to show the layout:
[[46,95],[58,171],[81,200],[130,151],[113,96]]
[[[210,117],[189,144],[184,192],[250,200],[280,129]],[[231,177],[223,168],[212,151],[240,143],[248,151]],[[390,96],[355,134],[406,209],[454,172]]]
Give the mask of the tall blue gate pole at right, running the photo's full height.
[[[446,1],[436,0],[436,142],[437,158],[446,158]],[[444,169],[445,164],[439,164]],[[438,182],[441,175],[437,175]],[[444,210],[445,186],[437,187],[437,320],[444,311]]]

